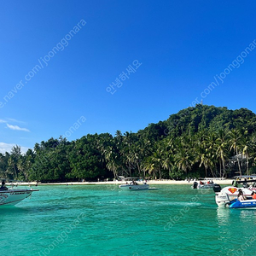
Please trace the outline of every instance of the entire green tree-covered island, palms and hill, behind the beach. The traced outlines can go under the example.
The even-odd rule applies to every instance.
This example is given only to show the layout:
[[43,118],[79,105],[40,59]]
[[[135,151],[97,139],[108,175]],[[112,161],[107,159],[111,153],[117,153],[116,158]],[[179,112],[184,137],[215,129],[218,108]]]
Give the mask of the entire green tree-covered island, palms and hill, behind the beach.
[[[118,127],[117,127],[118,128]],[[143,130],[50,138],[20,154],[0,154],[0,177],[70,181],[140,176],[228,177],[254,172],[256,115],[196,105]]]

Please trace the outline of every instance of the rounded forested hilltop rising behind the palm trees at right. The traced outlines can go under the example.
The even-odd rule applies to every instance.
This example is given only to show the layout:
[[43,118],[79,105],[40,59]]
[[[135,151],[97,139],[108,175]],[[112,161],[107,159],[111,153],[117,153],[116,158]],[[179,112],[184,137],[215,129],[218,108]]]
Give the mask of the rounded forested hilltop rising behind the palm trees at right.
[[166,135],[171,137],[193,135],[206,129],[207,131],[239,129],[252,134],[256,131],[256,114],[247,108],[229,110],[226,107],[216,108],[198,104],[195,108],[185,108],[172,114],[169,119],[158,124],[150,124],[138,133],[150,131],[154,138],[161,139]]

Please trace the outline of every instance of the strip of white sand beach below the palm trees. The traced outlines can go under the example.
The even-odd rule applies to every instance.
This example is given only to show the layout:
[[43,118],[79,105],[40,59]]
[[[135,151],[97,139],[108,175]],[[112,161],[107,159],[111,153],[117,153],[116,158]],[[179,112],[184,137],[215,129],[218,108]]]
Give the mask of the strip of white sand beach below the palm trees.
[[[222,185],[231,185],[233,179],[211,179],[213,183],[217,184],[222,184]],[[199,183],[198,180],[193,180],[193,181],[187,181],[187,180],[148,180],[147,183],[150,184],[165,184],[165,185],[182,185],[182,184],[188,184],[192,185],[194,182]],[[202,181],[204,183],[207,183],[206,181]],[[62,185],[62,186],[67,186],[67,185],[120,185],[120,184],[125,184],[124,181],[106,181],[106,182],[68,182],[68,183],[36,183],[36,182],[31,182],[31,183],[12,183],[15,186],[45,186],[45,185]],[[7,185],[11,185],[11,183],[7,183]]]

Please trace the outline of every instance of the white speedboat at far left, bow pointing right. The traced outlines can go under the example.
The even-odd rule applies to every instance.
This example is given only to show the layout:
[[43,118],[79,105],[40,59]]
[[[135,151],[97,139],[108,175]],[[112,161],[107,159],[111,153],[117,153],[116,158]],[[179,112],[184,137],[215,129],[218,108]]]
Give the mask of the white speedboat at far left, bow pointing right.
[[14,206],[26,197],[32,195],[32,192],[39,191],[38,189],[14,189],[2,187],[0,188],[0,206]]

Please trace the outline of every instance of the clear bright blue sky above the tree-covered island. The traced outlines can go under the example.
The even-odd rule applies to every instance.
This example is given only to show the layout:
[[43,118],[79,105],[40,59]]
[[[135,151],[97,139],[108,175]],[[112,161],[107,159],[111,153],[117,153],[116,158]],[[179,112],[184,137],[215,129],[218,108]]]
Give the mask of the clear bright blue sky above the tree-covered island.
[[201,99],[255,113],[255,8],[253,0],[4,1],[0,152],[61,135],[136,132]]

